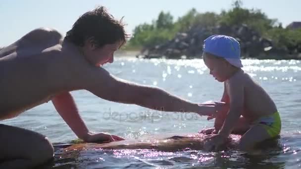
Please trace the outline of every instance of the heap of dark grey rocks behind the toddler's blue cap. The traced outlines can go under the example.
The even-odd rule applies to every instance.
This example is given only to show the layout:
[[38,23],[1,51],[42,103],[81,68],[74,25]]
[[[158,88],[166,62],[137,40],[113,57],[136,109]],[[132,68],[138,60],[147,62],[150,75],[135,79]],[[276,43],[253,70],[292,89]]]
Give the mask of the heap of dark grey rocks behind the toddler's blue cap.
[[[162,44],[145,47],[141,55],[144,58],[195,58],[201,57],[203,41],[214,34],[232,36],[241,44],[242,57],[292,58],[301,59],[301,44],[297,46],[275,46],[272,40],[262,37],[258,32],[252,30],[248,25],[218,25],[214,28],[203,28],[195,25],[187,32],[179,32],[175,38]],[[185,56],[185,57],[182,57]],[[140,56],[139,56],[140,57]]]

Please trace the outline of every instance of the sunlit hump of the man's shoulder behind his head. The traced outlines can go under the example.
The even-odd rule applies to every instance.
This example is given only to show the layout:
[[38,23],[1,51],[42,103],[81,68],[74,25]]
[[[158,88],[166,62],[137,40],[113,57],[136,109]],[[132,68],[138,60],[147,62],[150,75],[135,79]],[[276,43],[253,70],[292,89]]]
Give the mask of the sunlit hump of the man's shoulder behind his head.
[[41,27],[27,33],[21,38],[21,41],[25,40],[27,42],[33,43],[45,41],[59,42],[62,38],[62,34],[59,33],[56,29]]

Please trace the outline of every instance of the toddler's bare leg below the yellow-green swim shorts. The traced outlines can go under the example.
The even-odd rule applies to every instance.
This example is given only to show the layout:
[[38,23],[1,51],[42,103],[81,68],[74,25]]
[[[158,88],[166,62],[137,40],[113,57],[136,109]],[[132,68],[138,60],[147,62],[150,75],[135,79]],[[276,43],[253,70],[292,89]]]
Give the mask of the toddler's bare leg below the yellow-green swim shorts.
[[250,150],[256,143],[271,138],[262,125],[254,125],[240,139],[238,148],[240,150]]

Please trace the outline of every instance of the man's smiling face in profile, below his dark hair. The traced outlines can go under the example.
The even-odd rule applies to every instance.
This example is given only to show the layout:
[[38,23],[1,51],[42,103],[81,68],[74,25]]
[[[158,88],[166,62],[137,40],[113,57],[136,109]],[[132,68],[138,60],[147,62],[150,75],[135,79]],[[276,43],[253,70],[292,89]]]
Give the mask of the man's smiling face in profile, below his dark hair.
[[105,44],[102,47],[96,47],[92,42],[87,42],[83,47],[84,56],[95,66],[102,66],[105,63],[113,63],[114,52],[119,48],[121,42]]

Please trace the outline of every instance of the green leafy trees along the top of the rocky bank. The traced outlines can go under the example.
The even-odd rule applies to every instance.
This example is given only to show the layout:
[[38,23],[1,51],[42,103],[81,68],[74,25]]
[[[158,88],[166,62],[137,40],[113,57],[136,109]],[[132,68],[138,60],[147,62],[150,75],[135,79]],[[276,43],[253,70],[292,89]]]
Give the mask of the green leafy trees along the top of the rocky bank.
[[275,46],[301,50],[301,29],[284,29],[277,19],[268,18],[261,10],[244,8],[241,0],[235,0],[231,9],[222,10],[219,14],[199,13],[192,8],[175,22],[173,19],[169,12],[161,11],[151,24],[140,24],[134,29],[127,46],[141,48],[162,44],[173,39],[178,32],[187,32],[192,27],[204,28],[207,34],[213,34],[214,29],[211,28],[217,25],[233,28],[247,24],[260,36],[271,39]]

